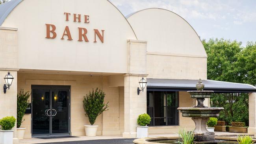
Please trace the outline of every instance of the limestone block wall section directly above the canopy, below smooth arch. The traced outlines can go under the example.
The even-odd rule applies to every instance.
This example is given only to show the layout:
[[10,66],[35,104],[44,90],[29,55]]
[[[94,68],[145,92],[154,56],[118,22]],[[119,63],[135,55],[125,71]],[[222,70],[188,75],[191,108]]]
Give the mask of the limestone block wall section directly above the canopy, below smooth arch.
[[207,79],[207,57],[147,53],[147,78]]

